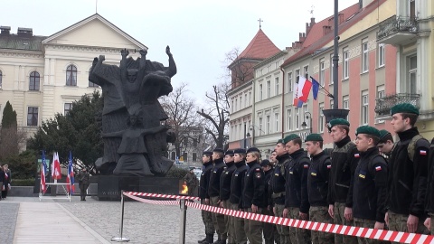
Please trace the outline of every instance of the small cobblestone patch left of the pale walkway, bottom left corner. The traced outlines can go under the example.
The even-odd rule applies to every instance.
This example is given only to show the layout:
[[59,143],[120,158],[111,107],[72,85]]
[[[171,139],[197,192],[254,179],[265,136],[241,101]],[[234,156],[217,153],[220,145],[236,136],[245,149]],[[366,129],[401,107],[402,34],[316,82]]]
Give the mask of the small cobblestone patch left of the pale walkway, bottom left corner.
[[0,243],[12,243],[14,241],[15,224],[20,203],[6,202],[6,200],[3,200],[1,203],[0,220],[2,220],[2,227],[0,228]]

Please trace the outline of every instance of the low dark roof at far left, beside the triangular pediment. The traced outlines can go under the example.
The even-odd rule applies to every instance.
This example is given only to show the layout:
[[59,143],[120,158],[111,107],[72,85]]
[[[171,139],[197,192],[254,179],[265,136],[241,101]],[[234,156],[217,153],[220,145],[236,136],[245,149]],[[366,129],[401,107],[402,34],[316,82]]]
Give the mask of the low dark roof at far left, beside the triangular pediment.
[[46,36],[19,36],[18,34],[0,34],[0,49],[23,51],[42,51],[41,42]]

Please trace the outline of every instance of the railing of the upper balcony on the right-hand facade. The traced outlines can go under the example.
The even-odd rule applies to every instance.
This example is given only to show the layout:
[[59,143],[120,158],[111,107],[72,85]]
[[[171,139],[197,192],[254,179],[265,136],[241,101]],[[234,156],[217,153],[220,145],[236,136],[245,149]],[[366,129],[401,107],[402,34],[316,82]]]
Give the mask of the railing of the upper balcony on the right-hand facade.
[[414,17],[393,16],[380,23],[377,40],[391,36],[394,33],[417,33],[418,21]]

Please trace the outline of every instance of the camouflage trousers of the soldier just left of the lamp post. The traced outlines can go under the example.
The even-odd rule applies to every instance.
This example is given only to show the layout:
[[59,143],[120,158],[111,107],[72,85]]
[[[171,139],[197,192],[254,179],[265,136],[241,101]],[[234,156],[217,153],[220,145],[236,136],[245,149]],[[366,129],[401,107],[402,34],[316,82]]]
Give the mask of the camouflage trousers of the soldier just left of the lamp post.
[[[332,217],[328,214],[328,207],[324,206],[310,206],[309,221],[333,223]],[[333,233],[311,230],[310,236],[313,244],[335,243],[335,234]]]

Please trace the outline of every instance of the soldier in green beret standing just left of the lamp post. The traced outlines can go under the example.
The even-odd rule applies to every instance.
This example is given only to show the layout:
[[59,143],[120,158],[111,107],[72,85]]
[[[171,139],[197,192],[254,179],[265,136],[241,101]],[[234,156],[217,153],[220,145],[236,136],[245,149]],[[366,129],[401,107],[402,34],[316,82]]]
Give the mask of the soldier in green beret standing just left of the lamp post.
[[[310,155],[310,167],[307,173],[307,195],[309,198],[309,221],[333,223],[328,214],[327,192],[328,177],[332,162],[330,156],[323,151],[323,137],[319,134],[306,136],[306,150]],[[333,233],[311,231],[313,244],[335,243]]]

